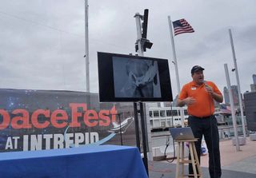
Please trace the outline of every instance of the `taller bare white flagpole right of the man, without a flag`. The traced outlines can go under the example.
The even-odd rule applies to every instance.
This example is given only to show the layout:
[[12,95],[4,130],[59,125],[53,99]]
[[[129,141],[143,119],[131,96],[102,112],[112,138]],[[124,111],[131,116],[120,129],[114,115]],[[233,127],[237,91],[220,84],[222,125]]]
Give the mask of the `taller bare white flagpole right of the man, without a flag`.
[[240,113],[241,113],[241,120],[242,120],[242,133],[243,133],[243,137],[246,138],[246,126],[245,126],[245,120],[244,120],[244,116],[243,116],[241,89],[240,89],[240,82],[239,82],[239,77],[238,77],[238,65],[237,65],[237,59],[236,59],[235,53],[234,53],[234,42],[233,42],[233,38],[232,38],[230,29],[229,29],[229,34],[230,34],[230,44],[231,44],[233,60],[234,60],[234,72],[235,72],[235,76],[236,76],[237,84],[238,84],[238,99],[239,99],[239,106],[240,106]]

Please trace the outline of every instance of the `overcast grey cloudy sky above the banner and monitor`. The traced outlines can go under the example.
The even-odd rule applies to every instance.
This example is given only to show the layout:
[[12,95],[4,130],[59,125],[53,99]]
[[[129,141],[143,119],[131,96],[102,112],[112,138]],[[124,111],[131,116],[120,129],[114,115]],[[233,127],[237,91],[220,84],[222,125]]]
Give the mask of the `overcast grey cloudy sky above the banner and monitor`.
[[[205,78],[223,91],[224,64],[236,85],[228,30],[232,30],[242,93],[256,73],[256,1],[254,0],[89,0],[90,91],[98,92],[97,51],[135,53],[134,14],[149,9],[147,57],[169,62],[173,94],[177,85],[168,15],[186,18],[195,32],[174,38],[181,85],[190,69],[202,65]],[[0,71],[2,89],[86,90],[83,0],[2,0]]]

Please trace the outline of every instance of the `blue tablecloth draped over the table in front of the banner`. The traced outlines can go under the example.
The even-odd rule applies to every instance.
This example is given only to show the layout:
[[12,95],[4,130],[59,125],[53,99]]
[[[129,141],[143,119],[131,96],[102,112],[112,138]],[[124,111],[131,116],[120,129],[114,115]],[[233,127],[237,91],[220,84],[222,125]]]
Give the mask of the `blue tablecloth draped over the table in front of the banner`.
[[1,178],[143,178],[138,148],[95,145],[79,148],[0,153]]

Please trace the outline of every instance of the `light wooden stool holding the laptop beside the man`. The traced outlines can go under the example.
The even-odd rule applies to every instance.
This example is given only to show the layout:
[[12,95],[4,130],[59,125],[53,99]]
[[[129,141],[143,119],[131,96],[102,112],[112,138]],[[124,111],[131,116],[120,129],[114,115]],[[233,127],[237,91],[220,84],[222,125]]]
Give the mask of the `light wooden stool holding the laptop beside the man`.
[[[200,168],[199,160],[198,160],[198,153],[196,151],[196,148],[194,146],[194,142],[198,139],[190,139],[190,140],[175,140],[178,142],[178,151],[177,151],[177,163],[176,163],[176,178],[179,177],[188,177],[188,176],[194,176],[196,178],[200,177],[202,178],[202,170]],[[190,157],[191,160],[184,160],[184,143],[187,142],[189,144],[190,149]],[[182,152],[182,156],[180,158],[180,152]],[[193,172],[194,174],[184,174],[184,164],[192,164]],[[179,164],[182,164],[182,172],[179,176]],[[198,169],[198,172],[197,172]]]

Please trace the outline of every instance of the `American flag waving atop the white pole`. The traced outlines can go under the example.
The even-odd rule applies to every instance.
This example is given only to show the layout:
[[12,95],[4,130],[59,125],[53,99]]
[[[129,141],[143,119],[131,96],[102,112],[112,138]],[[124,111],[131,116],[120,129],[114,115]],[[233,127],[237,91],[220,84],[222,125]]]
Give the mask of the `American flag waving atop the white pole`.
[[190,24],[186,22],[184,18],[178,21],[174,21],[173,25],[174,25],[174,35],[194,32],[194,29],[192,28],[192,26],[190,26]]

